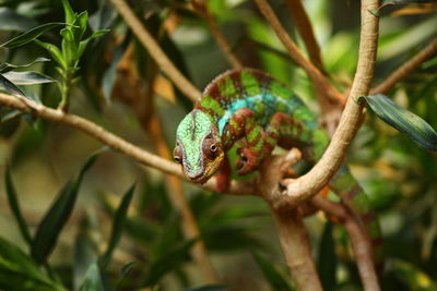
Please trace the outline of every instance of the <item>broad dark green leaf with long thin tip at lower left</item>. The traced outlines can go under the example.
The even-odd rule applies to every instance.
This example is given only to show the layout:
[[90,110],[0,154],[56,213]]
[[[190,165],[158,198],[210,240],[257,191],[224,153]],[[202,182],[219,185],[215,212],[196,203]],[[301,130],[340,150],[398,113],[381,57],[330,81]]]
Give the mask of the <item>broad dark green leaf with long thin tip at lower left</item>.
[[48,255],[54,250],[59,233],[66,226],[76,201],[79,189],[83,180],[83,175],[95,162],[98,153],[92,155],[82,167],[78,178],[67,184],[60,191],[54,205],[44,216],[38,225],[35,238],[31,247],[31,254],[38,264],[47,260]]

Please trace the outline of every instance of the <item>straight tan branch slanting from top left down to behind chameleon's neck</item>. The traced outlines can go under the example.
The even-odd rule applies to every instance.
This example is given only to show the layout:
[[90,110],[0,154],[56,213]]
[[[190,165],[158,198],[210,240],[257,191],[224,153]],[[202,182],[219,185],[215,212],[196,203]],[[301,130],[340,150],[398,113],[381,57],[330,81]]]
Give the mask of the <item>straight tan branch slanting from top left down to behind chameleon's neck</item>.
[[120,15],[125,19],[128,26],[135,34],[140,43],[160,65],[161,70],[163,70],[163,72],[172,80],[172,82],[180,89],[180,92],[182,92],[192,101],[197,101],[200,98],[201,93],[179,72],[170,59],[168,59],[165,52],[161,49],[160,45],[145,29],[129,5],[123,0],[110,1]]

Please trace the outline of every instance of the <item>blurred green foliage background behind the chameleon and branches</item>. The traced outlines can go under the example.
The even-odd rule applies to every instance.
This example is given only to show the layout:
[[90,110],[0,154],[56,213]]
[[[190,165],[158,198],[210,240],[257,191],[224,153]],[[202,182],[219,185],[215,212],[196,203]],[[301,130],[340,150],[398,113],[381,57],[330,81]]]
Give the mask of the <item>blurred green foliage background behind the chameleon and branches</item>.
[[[187,2],[141,0],[129,4],[177,68],[202,88],[229,66],[204,20],[186,9]],[[284,2],[270,2],[284,26],[302,44]],[[326,70],[335,85],[345,90],[353,80],[357,59],[358,1],[304,2]],[[408,2],[414,1],[391,2],[397,5],[385,5],[378,12],[381,25],[375,84],[420,51],[437,33],[437,15],[429,13],[429,7],[435,9],[434,3],[418,5],[427,13],[397,15],[395,12],[411,11]],[[58,107],[61,96],[69,96],[71,112],[154,150],[151,137],[143,130],[144,120],[135,111],[135,106],[141,105],[145,112],[160,118],[172,147],[175,128],[191,104],[161,75],[160,89],[153,96],[146,94],[156,65],[109,1],[76,0],[71,1],[71,7],[67,3],[0,1],[0,43],[11,39],[20,40],[20,45],[26,43],[0,48],[0,89],[22,92],[50,107]],[[290,60],[251,1],[209,1],[209,9],[246,65],[260,68],[288,83],[318,111],[310,82]],[[34,31],[32,37],[27,34],[26,41],[16,38],[29,29]],[[104,34],[106,29],[110,32]],[[32,41],[36,37],[38,41]],[[132,76],[122,69],[127,65],[138,74]],[[436,69],[434,58],[388,94],[434,129],[437,128]],[[7,72],[12,71],[27,72],[27,84],[22,83],[25,87],[9,82],[12,77]],[[180,214],[169,202],[170,193],[162,174],[113,151],[101,153],[98,160],[92,158],[85,162],[102,146],[93,138],[5,108],[1,109],[1,117],[0,163],[5,179],[0,194],[0,289],[293,288],[284,275],[286,266],[262,201],[205,193],[184,184],[201,230],[199,239],[204,241],[224,284],[199,287],[203,278],[189,253],[196,240],[184,238]],[[436,154],[416,147],[373,112],[368,112],[352,145],[349,155],[352,170],[369,194],[382,225],[383,290],[436,290]],[[69,180],[83,163],[80,174]],[[129,189],[134,181],[135,189]],[[306,222],[324,288],[361,290],[344,229],[321,216]]]

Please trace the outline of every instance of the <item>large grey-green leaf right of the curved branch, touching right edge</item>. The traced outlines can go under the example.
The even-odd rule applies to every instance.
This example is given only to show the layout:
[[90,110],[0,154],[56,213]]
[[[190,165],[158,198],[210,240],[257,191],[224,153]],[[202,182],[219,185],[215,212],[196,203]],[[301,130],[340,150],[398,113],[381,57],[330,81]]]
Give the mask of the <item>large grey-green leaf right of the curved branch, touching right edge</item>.
[[358,98],[363,99],[380,119],[406,134],[420,147],[437,150],[437,133],[425,120],[403,109],[382,94]]

